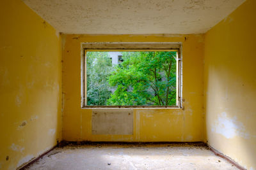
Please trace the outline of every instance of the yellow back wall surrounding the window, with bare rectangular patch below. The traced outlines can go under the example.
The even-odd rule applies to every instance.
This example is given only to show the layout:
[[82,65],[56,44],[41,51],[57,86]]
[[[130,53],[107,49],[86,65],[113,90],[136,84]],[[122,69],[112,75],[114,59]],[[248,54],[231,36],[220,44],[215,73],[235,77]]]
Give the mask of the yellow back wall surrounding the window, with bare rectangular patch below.
[[[62,40],[64,140],[202,141],[204,36],[69,34]],[[92,135],[92,109],[81,109],[81,43],[95,41],[182,42],[184,110],[134,109],[132,135]]]

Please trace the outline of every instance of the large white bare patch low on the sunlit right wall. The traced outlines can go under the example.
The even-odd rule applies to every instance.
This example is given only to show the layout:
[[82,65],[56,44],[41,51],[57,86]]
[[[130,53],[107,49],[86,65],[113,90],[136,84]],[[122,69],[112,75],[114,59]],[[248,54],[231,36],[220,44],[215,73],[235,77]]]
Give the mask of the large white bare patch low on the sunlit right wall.
[[236,116],[228,118],[226,112],[222,112],[218,115],[218,120],[216,120],[215,124],[212,125],[211,131],[222,134],[227,139],[234,138],[236,136],[250,139],[250,134],[246,132],[244,124],[238,122]]

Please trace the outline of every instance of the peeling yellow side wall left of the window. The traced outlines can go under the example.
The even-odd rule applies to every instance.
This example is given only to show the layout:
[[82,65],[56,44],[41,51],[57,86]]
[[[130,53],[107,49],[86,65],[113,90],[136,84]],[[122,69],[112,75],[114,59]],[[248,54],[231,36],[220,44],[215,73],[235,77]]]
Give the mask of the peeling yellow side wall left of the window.
[[0,169],[16,169],[61,140],[61,38],[20,0],[0,23]]

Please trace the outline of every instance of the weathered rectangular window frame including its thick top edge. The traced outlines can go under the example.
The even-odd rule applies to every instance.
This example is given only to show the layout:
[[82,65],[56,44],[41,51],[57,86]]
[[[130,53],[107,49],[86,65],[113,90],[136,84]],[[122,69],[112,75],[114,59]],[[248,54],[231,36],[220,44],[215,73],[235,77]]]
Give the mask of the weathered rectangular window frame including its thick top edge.
[[[115,44],[116,43],[116,44]],[[103,43],[82,43],[81,44],[81,108],[84,109],[93,109],[93,108],[109,108],[109,109],[119,109],[119,108],[159,108],[159,109],[175,109],[175,108],[182,108],[182,44],[181,43],[140,43],[143,45],[148,46],[145,48],[143,46],[142,48],[140,45],[138,48],[129,48],[129,46],[125,47],[125,43],[117,43],[117,42],[103,42]],[[90,46],[86,46],[84,44],[90,44]],[[111,44],[111,46],[107,46]],[[121,45],[120,45],[121,44]],[[127,43],[129,45],[134,44],[138,45],[138,43]],[[172,45],[172,46],[164,46],[164,48],[154,48],[155,44],[159,45]],[[102,45],[104,48],[102,48]],[[116,48],[113,48],[116,46]],[[121,48],[120,48],[121,46]],[[88,48],[89,47],[89,48]],[[94,47],[94,48],[93,48]],[[87,106],[86,103],[86,95],[87,95],[87,82],[86,82],[86,52],[131,52],[131,51],[166,51],[166,52],[172,52],[175,51],[177,52],[177,64],[176,64],[176,88],[177,88],[177,93],[176,93],[176,105],[175,106]]]

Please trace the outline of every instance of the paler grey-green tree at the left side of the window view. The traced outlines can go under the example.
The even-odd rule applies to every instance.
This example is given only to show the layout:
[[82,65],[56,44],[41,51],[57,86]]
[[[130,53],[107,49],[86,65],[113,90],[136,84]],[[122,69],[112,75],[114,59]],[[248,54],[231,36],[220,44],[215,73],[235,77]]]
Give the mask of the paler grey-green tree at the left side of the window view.
[[87,105],[104,106],[111,95],[108,77],[113,66],[108,52],[87,52]]

